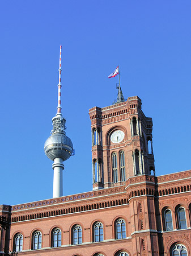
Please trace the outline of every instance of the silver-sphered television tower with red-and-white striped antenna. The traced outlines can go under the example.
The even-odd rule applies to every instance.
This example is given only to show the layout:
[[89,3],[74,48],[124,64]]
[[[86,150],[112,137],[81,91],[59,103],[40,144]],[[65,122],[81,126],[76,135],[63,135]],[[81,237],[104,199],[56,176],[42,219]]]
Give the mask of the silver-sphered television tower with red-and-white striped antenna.
[[63,195],[62,188],[62,171],[64,169],[63,161],[74,155],[73,143],[70,138],[66,136],[66,119],[63,118],[61,113],[61,50],[60,46],[60,67],[59,71],[59,83],[58,83],[58,106],[57,114],[52,118],[53,130],[51,135],[44,144],[44,152],[48,158],[54,163],[52,168],[54,170],[54,181],[53,181],[53,198],[60,197]]

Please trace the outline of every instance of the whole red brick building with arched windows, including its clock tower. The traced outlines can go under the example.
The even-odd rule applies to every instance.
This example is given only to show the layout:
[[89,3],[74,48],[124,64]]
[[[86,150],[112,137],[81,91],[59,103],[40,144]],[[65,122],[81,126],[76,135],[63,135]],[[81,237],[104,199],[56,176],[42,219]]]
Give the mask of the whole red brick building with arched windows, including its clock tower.
[[93,190],[1,205],[0,253],[191,255],[191,170],[155,176],[152,118],[129,97],[90,109]]

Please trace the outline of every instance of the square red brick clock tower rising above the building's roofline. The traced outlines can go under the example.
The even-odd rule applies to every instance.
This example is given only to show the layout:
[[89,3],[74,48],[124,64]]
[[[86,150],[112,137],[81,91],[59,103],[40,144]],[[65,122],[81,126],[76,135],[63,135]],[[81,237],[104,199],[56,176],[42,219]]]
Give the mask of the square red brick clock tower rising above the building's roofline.
[[125,101],[118,93],[115,104],[90,109],[93,189],[124,185],[132,176],[155,175],[152,118],[141,105],[138,96]]

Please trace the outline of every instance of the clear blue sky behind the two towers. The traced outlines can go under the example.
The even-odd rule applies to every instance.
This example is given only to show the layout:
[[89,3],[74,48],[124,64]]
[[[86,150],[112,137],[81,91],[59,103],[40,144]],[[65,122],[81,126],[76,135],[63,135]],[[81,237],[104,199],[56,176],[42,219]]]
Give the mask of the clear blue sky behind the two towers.
[[91,191],[88,109],[111,105],[120,64],[125,98],[138,95],[154,123],[156,175],[189,170],[191,2],[1,1],[0,204],[52,197],[44,142],[56,114],[62,44],[62,112],[75,156],[63,195]]

